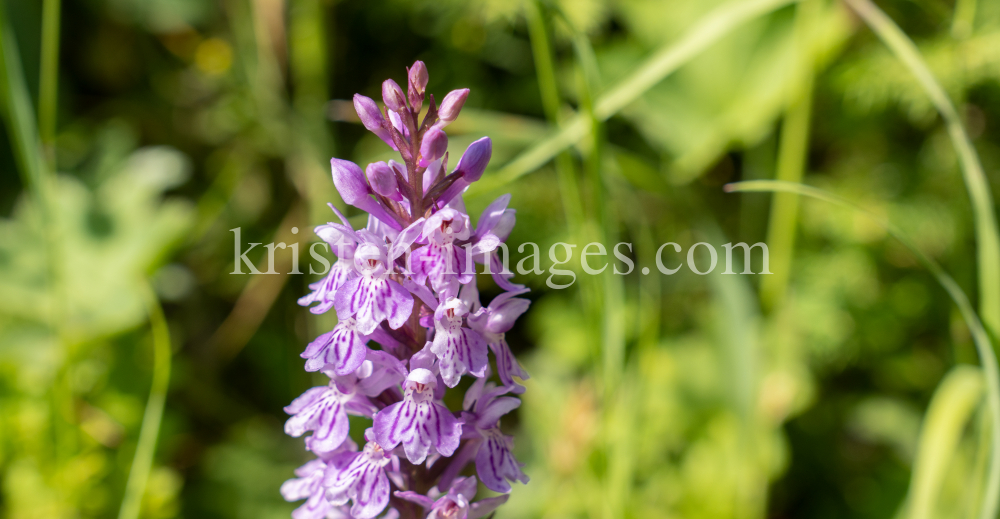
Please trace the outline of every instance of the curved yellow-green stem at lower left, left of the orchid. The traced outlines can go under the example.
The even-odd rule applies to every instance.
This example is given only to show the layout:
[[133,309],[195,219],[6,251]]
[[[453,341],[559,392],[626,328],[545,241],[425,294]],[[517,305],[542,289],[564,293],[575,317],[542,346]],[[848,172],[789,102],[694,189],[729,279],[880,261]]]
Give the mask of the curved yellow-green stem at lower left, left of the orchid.
[[167,327],[163,308],[156,299],[156,294],[146,281],[140,282],[146,297],[149,324],[153,335],[153,382],[149,390],[149,400],[146,402],[146,412],[142,417],[142,428],[139,430],[139,442],[136,444],[135,457],[129,470],[128,482],[125,484],[125,496],[118,512],[118,519],[136,519],[142,505],[142,496],[146,493],[146,482],[153,466],[153,454],[156,452],[156,438],[160,434],[160,422],[163,419],[163,408],[167,400],[167,388],[170,385],[170,329]]

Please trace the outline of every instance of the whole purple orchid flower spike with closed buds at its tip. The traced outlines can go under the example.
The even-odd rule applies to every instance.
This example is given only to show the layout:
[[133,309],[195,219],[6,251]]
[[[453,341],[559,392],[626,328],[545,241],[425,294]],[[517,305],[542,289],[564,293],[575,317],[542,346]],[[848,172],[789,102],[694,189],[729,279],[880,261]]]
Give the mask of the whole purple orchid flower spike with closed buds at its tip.
[[[524,391],[515,377],[528,378],[504,338],[529,304],[516,297],[528,290],[498,268],[497,248],[515,220],[510,195],[473,226],[462,193],[482,176],[492,143],[473,142],[448,173],[444,132],[469,90],[454,90],[437,105],[425,96],[422,62],[407,79],[405,93],[391,79],[382,84],[384,113],[372,99],[354,96],[361,122],[402,163],[375,162],[362,171],[330,161],[341,197],[366,212],[368,224],[355,230],[331,205],[340,222],[316,228],[337,262],[299,304],[317,314],[332,308],[338,323],[302,353],[306,371],[322,372],[329,383],[285,408],[292,415],[285,432],[311,431],[306,449],[317,456],[281,487],[285,499],[306,500],[295,519],[475,519],[508,497],[473,502],[478,482],[506,494],[510,482],[528,481],[512,438],[500,431],[501,417],[521,403],[511,396]],[[490,266],[503,290],[487,306],[480,304],[476,263]],[[489,380],[489,351],[498,382]],[[455,412],[442,398],[463,375],[476,380]],[[349,415],[372,419],[360,448],[349,437]],[[462,476],[470,464],[478,480]]]

